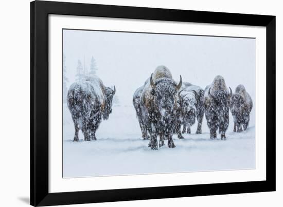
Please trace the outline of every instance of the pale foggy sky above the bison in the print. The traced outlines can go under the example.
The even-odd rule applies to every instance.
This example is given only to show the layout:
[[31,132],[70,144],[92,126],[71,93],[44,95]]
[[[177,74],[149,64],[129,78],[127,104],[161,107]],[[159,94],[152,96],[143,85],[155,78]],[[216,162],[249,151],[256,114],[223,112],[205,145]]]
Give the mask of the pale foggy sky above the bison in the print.
[[89,70],[96,60],[97,76],[116,86],[122,105],[132,105],[133,93],[158,65],[179,82],[205,88],[220,74],[234,92],[243,84],[255,103],[255,39],[102,31],[63,31],[68,86],[75,81],[78,60]]

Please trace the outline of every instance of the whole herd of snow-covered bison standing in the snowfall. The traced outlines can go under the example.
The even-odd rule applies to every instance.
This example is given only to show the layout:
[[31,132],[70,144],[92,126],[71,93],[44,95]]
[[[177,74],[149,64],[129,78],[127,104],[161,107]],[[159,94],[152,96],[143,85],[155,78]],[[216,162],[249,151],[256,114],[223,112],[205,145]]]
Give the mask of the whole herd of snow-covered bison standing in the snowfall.
[[[67,104],[75,125],[74,141],[79,140],[79,129],[85,140],[96,139],[95,132],[101,119],[108,119],[112,112],[115,91],[115,86],[105,87],[97,77],[86,78],[70,86]],[[134,92],[133,105],[143,139],[149,140],[151,149],[157,149],[158,145],[164,145],[165,140],[168,147],[175,147],[173,134],[184,139],[182,133],[190,134],[190,127],[196,120],[196,134],[201,134],[204,114],[210,139],[216,139],[217,130],[221,139],[226,139],[229,110],[234,118],[234,131],[246,130],[253,101],[243,85],[238,85],[233,94],[221,76],[215,77],[203,90],[183,82],[181,76],[176,83],[167,67],[158,66],[144,85]]]

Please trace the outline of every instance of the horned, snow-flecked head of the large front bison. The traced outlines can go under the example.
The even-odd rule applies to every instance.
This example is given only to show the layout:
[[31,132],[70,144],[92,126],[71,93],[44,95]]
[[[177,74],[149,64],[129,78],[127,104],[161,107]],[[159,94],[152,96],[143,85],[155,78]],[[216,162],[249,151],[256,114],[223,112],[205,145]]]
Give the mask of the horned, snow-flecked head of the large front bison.
[[163,118],[169,119],[172,116],[176,102],[176,94],[182,86],[182,77],[180,76],[178,85],[169,78],[160,78],[154,83],[151,74],[150,85],[152,87],[151,93],[155,97],[158,111]]

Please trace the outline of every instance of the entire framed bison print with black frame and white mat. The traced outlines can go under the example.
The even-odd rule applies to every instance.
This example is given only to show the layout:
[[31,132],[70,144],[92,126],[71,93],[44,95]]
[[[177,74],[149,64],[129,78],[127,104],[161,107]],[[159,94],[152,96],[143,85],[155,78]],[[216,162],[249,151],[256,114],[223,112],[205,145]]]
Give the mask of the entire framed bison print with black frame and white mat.
[[30,12],[31,205],[275,191],[275,16]]

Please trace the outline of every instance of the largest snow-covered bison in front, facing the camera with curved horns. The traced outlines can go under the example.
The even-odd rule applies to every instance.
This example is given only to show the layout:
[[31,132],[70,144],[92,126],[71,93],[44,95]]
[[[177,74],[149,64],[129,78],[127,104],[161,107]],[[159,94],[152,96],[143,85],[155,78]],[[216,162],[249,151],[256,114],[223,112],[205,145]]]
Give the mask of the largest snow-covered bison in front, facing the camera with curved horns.
[[176,101],[182,86],[172,78],[170,70],[165,66],[158,66],[146,82],[140,95],[140,109],[143,123],[149,133],[149,147],[157,149],[157,136],[160,136],[159,146],[168,139],[168,147],[175,147],[172,135],[175,125]]

